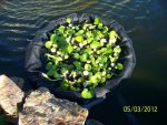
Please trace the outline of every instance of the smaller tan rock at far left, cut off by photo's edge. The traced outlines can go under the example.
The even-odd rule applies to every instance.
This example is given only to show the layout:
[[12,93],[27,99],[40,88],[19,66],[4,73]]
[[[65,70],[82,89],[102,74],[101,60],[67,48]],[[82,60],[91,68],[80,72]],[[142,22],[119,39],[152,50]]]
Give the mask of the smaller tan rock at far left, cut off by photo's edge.
[[18,117],[18,105],[22,102],[24,93],[6,75],[0,75],[0,107],[7,118],[14,121]]

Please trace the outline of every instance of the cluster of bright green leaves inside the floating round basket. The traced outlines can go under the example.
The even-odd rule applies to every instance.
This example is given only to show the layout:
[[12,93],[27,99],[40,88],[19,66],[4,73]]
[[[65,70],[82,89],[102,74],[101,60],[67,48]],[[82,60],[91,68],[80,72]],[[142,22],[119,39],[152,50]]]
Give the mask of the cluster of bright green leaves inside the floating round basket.
[[100,18],[73,24],[70,18],[59,25],[46,42],[47,75],[61,80],[61,90],[77,91],[91,98],[97,86],[114,79],[124,65],[118,62],[121,48],[115,30]]

